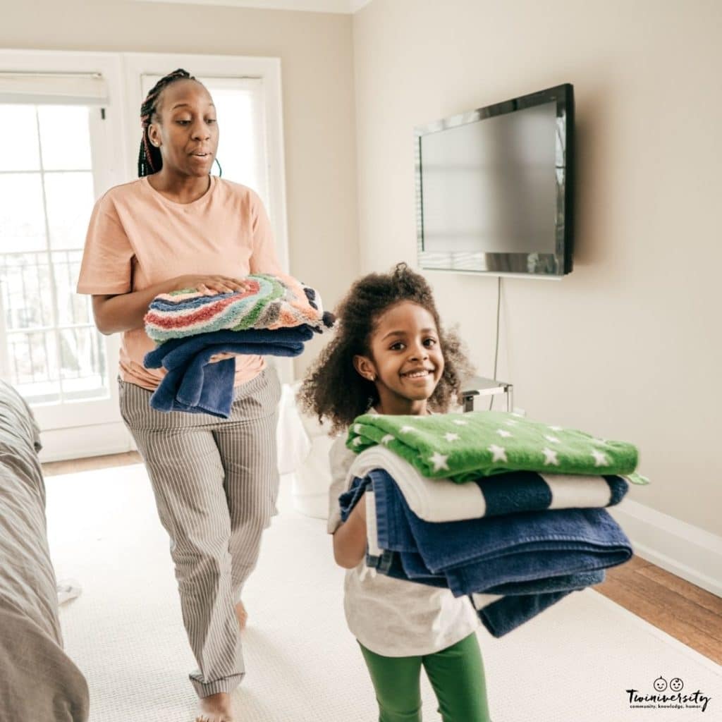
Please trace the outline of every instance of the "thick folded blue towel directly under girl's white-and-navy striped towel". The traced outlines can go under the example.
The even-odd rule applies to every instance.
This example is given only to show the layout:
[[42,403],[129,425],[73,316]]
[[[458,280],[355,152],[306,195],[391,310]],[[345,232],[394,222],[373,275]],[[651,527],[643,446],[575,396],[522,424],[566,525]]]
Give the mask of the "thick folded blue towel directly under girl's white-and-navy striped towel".
[[456,596],[508,582],[601,570],[632,556],[627,536],[604,509],[431,523],[412,512],[386,471],[368,476],[376,500],[378,547],[417,552],[432,573],[445,574]]

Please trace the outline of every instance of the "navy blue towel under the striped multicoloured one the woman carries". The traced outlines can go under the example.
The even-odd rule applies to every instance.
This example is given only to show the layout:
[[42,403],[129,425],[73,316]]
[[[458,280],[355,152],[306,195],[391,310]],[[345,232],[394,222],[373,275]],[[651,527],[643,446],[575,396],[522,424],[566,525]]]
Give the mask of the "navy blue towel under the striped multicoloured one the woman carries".
[[208,334],[170,339],[147,353],[147,368],[168,371],[150,397],[150,405],[162,412],[183,411],[227,418],[233,402],[235,359],[210,363],[219,353],[261,356],[298,356],[313,337],[310,326],[292,329],[212,331]]

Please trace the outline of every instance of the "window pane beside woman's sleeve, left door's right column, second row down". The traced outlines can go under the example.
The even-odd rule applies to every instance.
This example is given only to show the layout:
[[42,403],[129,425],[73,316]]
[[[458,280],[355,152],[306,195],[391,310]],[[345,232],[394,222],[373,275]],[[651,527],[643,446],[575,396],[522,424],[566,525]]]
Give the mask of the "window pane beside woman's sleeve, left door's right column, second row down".
[[51,248],[83,247],[93,201],[92,173],[45,175]]

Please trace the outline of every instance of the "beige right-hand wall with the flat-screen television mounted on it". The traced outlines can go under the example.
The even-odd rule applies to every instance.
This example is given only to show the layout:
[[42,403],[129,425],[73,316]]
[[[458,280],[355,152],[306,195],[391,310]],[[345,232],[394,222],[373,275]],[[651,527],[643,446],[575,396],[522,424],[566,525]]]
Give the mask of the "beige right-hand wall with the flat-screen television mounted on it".
[[[499,378],[636,443],[631,498],[722,534],[722,3],[373,0],[354,19],[362,271],[415,262],[414,125],[575,86],[575,269],[504,279]],[[496,279],[428,274],[492,373]]]

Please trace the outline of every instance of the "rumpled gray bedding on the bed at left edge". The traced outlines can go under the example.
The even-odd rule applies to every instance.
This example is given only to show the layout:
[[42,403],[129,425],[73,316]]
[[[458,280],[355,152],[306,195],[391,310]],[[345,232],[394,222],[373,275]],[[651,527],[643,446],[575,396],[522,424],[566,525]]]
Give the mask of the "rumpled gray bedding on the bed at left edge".
[[84,722],[87,683],[63,651],[40,436],[0,380],[0,722]]

